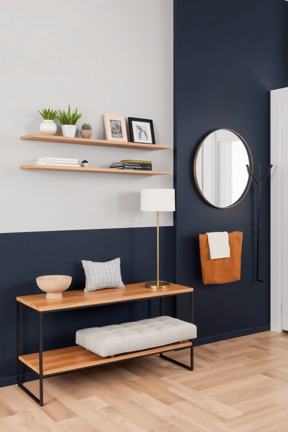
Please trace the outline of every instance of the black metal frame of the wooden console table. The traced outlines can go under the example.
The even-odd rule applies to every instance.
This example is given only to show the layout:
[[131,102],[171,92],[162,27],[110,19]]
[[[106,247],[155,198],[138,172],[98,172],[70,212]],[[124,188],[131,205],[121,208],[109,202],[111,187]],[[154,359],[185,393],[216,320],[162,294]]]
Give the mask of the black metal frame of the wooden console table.
[[[189,292],[183,292],[183,293],[179,293],[177,295],[183,295],[183,294],[189,294]],[[72,308],[62,308],[62,309],[53,309],[50,311],[37,311],[34,308],[31,308],[28,305],[25,305],[22,302],[19,302],[19,300],[16,300],[17,302],[17,386],[19,388],[21,388],[26,394],[28,394],[28,396],[30,396],[36,403],[38,403],[38,405],[40,405],[40,407],[43,407],[43,378],[49,378],[52,376],[56,376],[56,375],[63,375],[66,373],[70,373],[70,372],[76,372],[76,371],[80,371],[80,370],[84,370],[84,369],[91,369],[91,368],[96,368],[99,365],[94,365],[94,366],[87,366],[84,368],[75,368],[75,369],[70,369],[69,371],[64,371],[64,372],[56,372],[53,374],[49,374],[49,375],[45,375],[45,377],[43,377],[43,314],[45,313],[49,313],[49,312],[60,312],[60,311],[69,311],[69,310],[73,310],[73,309],[82,309],[82,308],[92,308],[95,306],[103,306],[103,305],[113,305],[113,304],[117,304],[117,303],[127,303],[127,302],[135,302],[137,300],[150,300],[150,299],[158,299],[160,300],[160,316],[162,315],[162,298],[163,297],[173,297],[173,318],[177,318],[177,295],[165,295],[165,293],[163,292],[163,295],[159,295],[159,296],[153,296],[153,297],[148,297],[148,298],[144,298],[144,299],[132,299],[132,300],[121,300],[120,302],[108,302],[108,303],[101,303],[101,304],[94,304],[94,305],[85,305],[85,306],[76,306],[76,307],[72,307]],[[190,292],[190,299],[191,299],[191,323],[193,324],[193,291]],[[29,391],[27,388],[24,387],[24,385],[21,383],[21,360],[19,359],[20,354],[20,303],[23,306],[26,306],[29,309],[32,309],[36,312],[39,313],[39,374],[38,372],[35,372],[32,368],[30,368],[28,365],[26,365],[28,368],[30,368],[36,375],[39,376],[39,399],[38,397],[36,397],[31,391]],[[177,360],[171,359],[170,357],[165,356],[162,353],[159,353],[159,356],[165,360],[168,360],[169,362],[175,363],[176,365],[182,366],[183,368],[186,368],[190,371],[193,371],[193,339],[188,339],[192,345],[190,346],[190,366],[185,365],[184,363],[178,362]],[[180,351],[181,349],[187,349],[187,347],[184,348],[178,348],[177,351]],[[176,351],[176,349],[171,349],[171,351]],[[143,356],[137,356],[136,358],[141,358],[141,357],[146,357],[146,356],[151,356],[152,354],[143,354]],[[132,360],[133,358],[131,358],[130,360]],[[109,364],[113,364],[113,363],[118,363],[118,362],[123,362],[123,359],[117,360],[117,358],[112,361],[109,362]],[[23,363],[25,364],[25,363]]]

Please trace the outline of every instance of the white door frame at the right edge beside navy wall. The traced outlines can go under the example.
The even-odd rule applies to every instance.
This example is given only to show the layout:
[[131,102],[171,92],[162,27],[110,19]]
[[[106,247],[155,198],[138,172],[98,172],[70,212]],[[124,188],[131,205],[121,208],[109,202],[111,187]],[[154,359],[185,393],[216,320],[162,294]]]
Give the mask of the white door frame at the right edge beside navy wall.
[[[282,104],[288,87],[272,90],[271,100],[271,330],[282,332]],[[286,269],[285,269],[286,270]]]

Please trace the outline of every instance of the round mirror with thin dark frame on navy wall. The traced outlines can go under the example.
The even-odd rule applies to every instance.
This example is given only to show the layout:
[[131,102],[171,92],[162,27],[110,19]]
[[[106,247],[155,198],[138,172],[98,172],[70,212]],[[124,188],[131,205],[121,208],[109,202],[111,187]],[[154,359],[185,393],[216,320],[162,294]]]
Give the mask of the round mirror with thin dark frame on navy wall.
[[217,208],[239,203],[251,184],[252,155],[246,141],[233,130],[218,129],[200,143],[194,158],[194,180],[199,194]]

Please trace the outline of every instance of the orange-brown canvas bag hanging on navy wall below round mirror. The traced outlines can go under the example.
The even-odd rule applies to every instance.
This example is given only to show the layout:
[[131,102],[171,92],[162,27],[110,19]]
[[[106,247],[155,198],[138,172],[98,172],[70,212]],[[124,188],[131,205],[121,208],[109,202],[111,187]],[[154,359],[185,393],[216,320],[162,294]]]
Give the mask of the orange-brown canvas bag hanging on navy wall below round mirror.
[[210,258],[208,235],[199,234],[202,280],[205,284],[234,282],[240,279],[242,231],[229,232],[230,257]]

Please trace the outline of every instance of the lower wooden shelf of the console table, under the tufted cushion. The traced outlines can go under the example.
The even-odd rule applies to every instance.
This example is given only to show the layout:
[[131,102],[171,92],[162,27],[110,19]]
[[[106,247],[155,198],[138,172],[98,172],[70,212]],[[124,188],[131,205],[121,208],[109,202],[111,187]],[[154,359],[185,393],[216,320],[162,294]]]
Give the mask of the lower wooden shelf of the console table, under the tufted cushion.
[[[155,348],[133,351],[132,353],[117,354],[114,357],[101,357],[98,354],[76,345],[69,348],[54,349],[43,352],[43,377],[61,372],[75,371],[77,369],[100,366],[122,360],[136,359],[137,357],[173,351],[178,348],[189,348],[192,342],[183,340],[182,343],[156,346]],[[19,360],[39,375],[39,353],[19,356]]]

